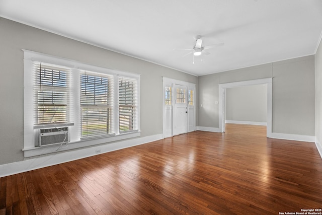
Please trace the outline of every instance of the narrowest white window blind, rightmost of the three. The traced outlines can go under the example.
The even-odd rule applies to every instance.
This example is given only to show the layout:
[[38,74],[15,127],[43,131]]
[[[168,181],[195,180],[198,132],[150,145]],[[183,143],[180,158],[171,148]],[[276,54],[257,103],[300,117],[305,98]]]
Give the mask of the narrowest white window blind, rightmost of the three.
[[119,132],[138,129],[137,80],[119,77]]

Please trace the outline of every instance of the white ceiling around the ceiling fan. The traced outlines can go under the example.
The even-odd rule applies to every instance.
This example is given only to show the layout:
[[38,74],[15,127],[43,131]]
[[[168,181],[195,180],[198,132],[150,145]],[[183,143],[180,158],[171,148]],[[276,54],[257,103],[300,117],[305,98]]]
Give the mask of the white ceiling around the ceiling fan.
[[[196,76],[314,54],[322,32],[321,0],[0,0],[0,16]],[[224,45],[192,64],[174,49],[196,35]]]

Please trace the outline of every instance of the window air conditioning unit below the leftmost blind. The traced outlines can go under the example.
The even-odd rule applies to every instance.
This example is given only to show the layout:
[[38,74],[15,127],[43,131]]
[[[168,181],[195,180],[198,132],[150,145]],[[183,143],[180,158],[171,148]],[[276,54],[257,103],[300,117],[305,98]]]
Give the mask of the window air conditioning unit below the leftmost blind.
[[38,144],[40,147],[62,144],[68,141],[68,127],[46,128],[39,130]]

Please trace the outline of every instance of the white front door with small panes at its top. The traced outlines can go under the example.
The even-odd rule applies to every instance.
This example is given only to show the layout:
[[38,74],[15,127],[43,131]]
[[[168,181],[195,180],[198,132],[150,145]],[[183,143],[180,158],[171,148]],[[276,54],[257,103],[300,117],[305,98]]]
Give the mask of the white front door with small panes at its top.
[[187,113],[187,86],[175,85],[173,135],[187,133]]

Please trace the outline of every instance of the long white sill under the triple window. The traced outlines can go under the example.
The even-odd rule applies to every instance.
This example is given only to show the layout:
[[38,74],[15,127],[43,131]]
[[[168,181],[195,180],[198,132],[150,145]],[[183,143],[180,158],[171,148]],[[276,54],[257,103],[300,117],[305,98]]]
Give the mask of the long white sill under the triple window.
[[[79,141],[74,141],[74,142],[68,142],[67,148],[64,148],[65,144],[63,144],[62,149],[60,149],[57,152],[64,152],[67,150],[90,147],[90,146],[95,146],[95,145],[99,145],[99,144],[107,144],[108,142],[114,142],[114,141],[119,141],[119,140],[123,140],[123,139],[135,138],[135,137],[139,137],[140,135],[141,135],[140,131],[135,131],[135,132],[131,132],[131,133],[123,133],[123,134],[104,137],[104,138],[84,139],[84,140],[79,140]],[[59,148],[59,146],[60,146],[60,144],[53,145],[53,146],[33,147],[33,148],[23,149],[24,157],[29,158],[29,157],[33,157],[33,156],[57,153],[56,150]]]

